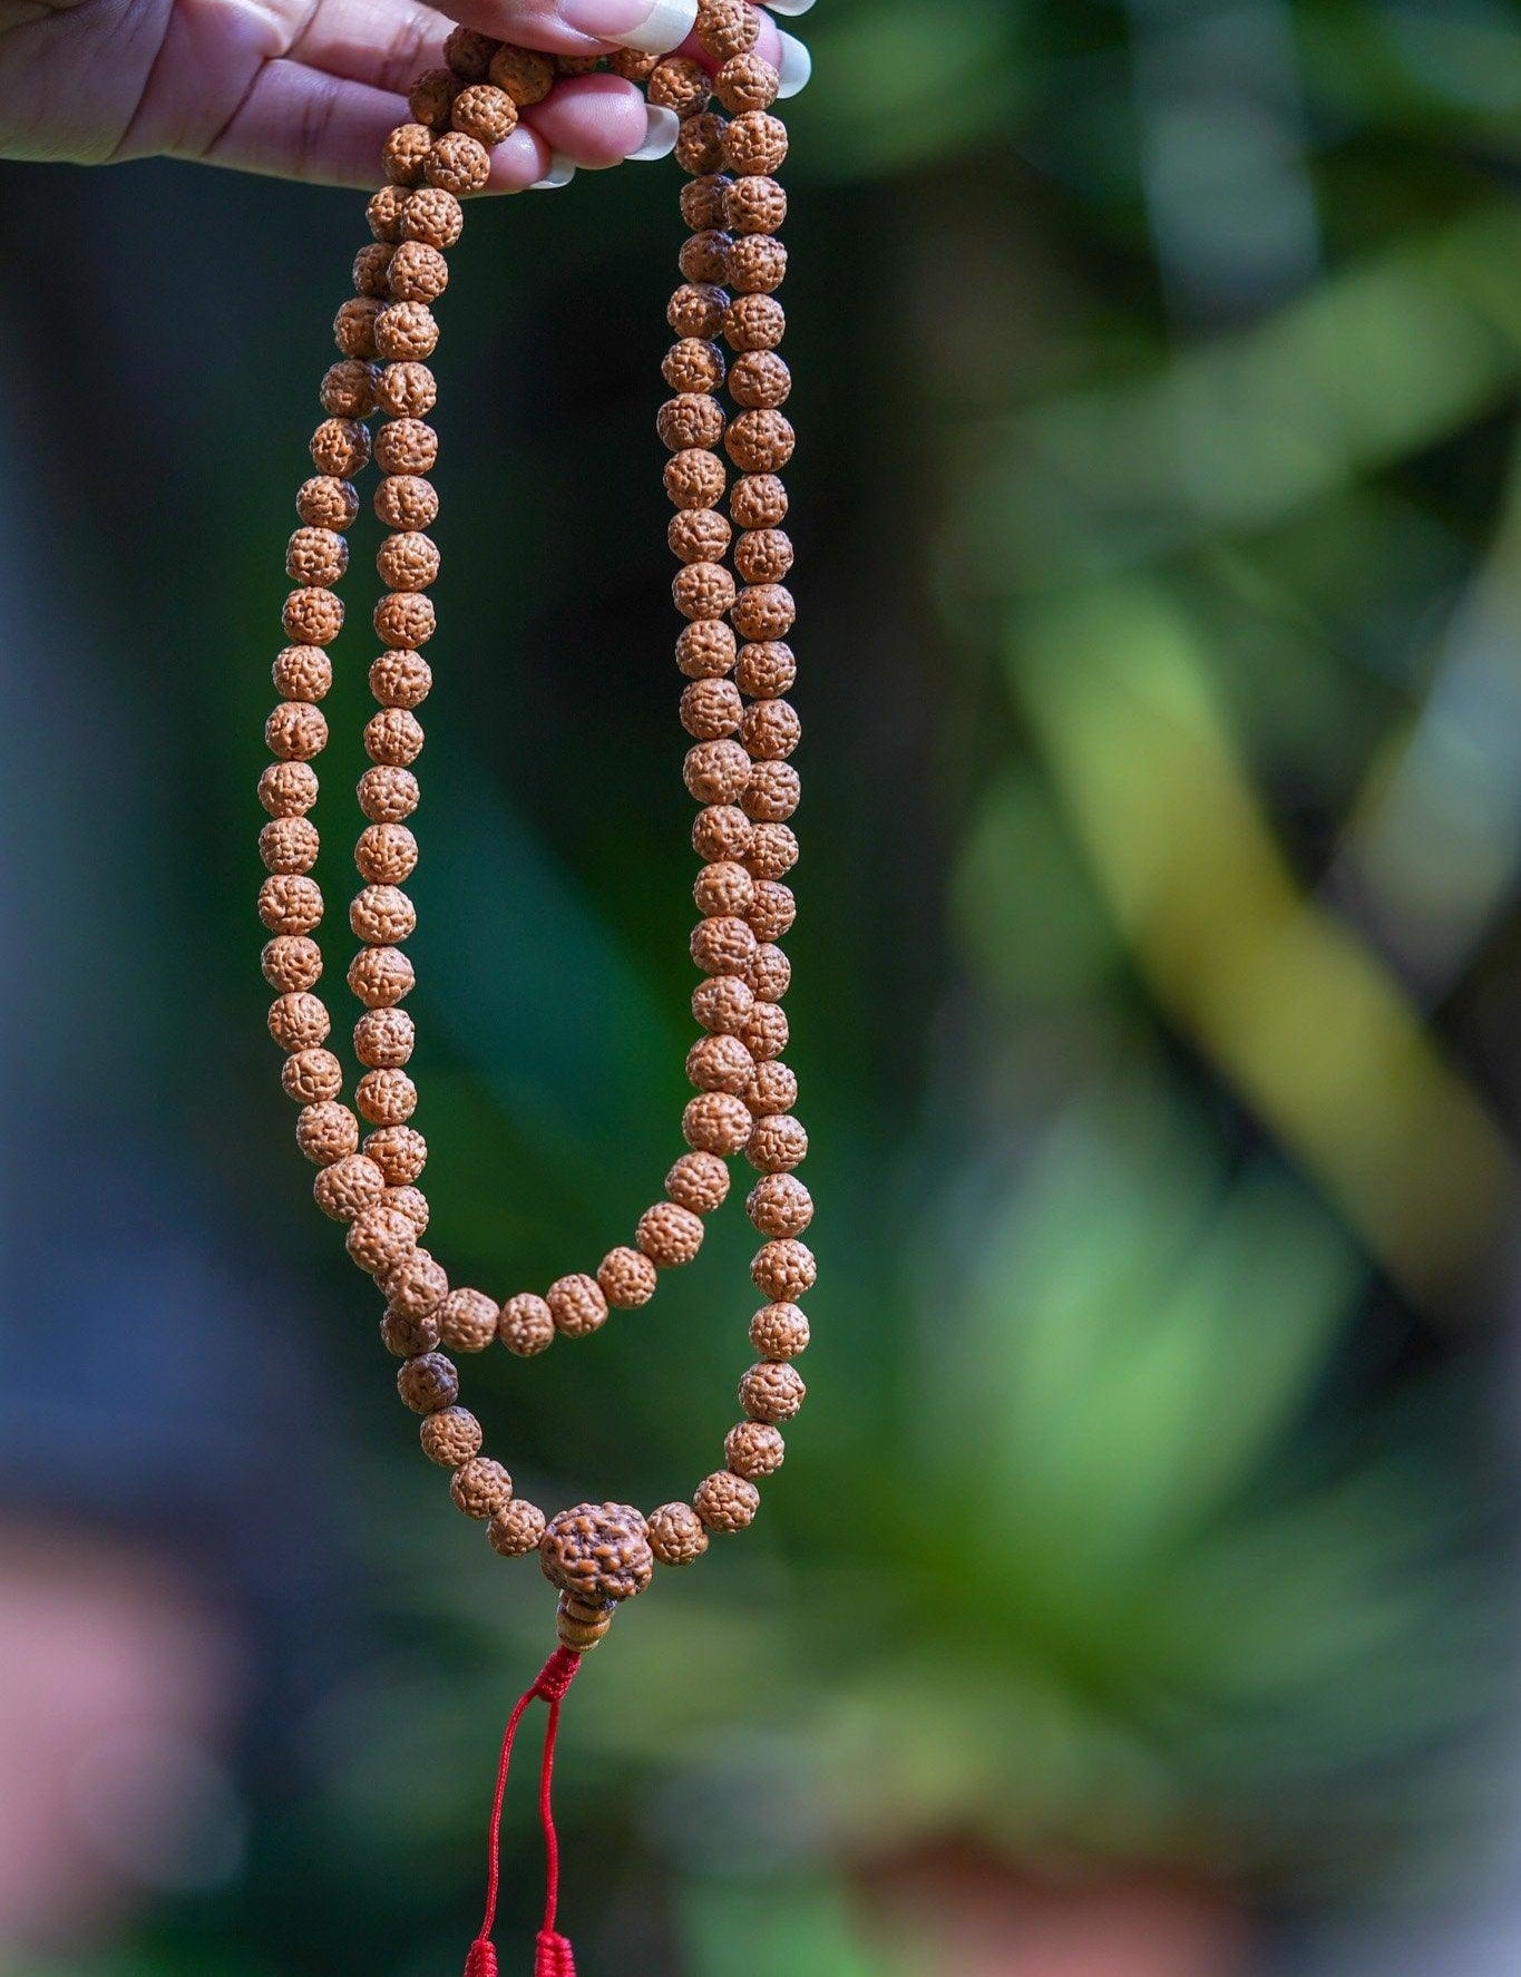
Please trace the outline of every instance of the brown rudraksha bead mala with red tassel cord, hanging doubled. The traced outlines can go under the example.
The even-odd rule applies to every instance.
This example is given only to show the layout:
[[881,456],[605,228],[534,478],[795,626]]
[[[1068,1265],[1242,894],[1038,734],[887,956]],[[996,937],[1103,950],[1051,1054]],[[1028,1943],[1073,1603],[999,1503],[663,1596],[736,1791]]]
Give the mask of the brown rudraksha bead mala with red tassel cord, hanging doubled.
[[[799,1299],[815,1279],[803,1244],[813,1202],[795,1172],[807,1133],[793,1111],[797,1079],[783,1062],[791,971],[779,945],[795,915],[785,880],[797,860],[789,818],[799,801],[789,761],[799,722],[785,698],[797,670],[785,643],[795,617],[785,587],[793,548],[777,478],[793,453],[781,409],[791,389],[779,354],[785,314],[775,299],[787,269],[777,237],[787,214],[777,180],[787,130],[773,113],[777,73],[754,51],[754,10],[740,0],[702,0],[696,34],[716,73],[682,55],[609,57],[615,73],[647,87],[651,103],[678,113],[676,160],[688,176],[680,194],[684,281],[667,312],[676,342],[663,364],[672,395],[657,427],[671,455],[665,486],[676,510],[669,528],[678,563],[672,597],[686,621],[676,639],[686,680],[680,722],[690,735],[682,773],[698,805],[692,892],[700,919],[690,949],[702,975],[692,994],[700,1036],[686,1058],[696,1097],[682,1113],[688,1151],[667,1174],[663,1200],[639,1218],[633,1242],[609,1249],[595,1271],[506,1301],[451,1287],[421,1246],[427,1145],[411,1123],[413,1020],[403,1006],[413,988],[405,941],[417,921],[403,890],[417,864],[407,818],[419,801],[417,708],[433,682],[423,656],[435,629],[427,591],[439,571],[427,534],[439,512],[429,478],[437,433],[427,423],[437,399],[427,364],[439,340],[433,304],[449,285],[447,249],[465,225],[461,202],[487,184],[491,148],[512,132],[522,105],[544,99],[558,73],[585,73],[595,63],[455,30],[447,67],[419,77],[409,95],[413,121],[386,140],[386,184],[368,206],[374,241],[358,251],[356,293],[334,318],[340,360],[322,380],[326,417],[311,441],[316,473],[297,496],[301,528],[285,561],[297,585],[283,613],[291,643],[273,668],[281,700],[265,739],[275,761],[259,779],[271,817],[259,836],[269,874],[259,892],[271,935],[263,951],[275,990],[269,1030],[287,1054],[285,1091],[301,1105],[297,1141],[318,1168],[316,1204],[346,1224],[350,1257],[386,1297],[380,1336],[402,1360],[398,1392],[421,1416],[423,1453],[451,1473],[455,1504],[483,1520],[504,1558],[536,1552],[560,1591],[560,1649],[512,1714],[496,1797],[498,1817],[512,1732],[530,1698],[542,1696],[550,1704],[542,1789],[550,1902],[538,1967],[548,1977],[574,1969],[570,1945],[554,1930],[558,1854],[548,1779],[560,1700],[580,1655],[605,1637],[621,1601],[649,1588],[657,1566],[690,1566],[712,1532],[738,1532],[754,1520],[758,1483],[783,1461],[781,1423],[803,1404],[793,1362],[809,1342],[809,1325]],[[732,484],[724,455],[738,471]],[[388,530],[376,558],[386,595],[374,611],[384,650],[370,666],[378,712],[364,730],[372,767],[358,785],[366,822],[354,850],[360,888],[348,907],[360,943],[348,987],[362,1004],[354,1024],[362,1074],[350,1109],[344,1068],[328,1048],[332,1018],[314,992],[324,902],[311,878],[318,836],[309,813],[316,801],[311,765],[328,737],[320,706],[332,684],[326,648],[344,623],[336,591],[348,567],[344,532],[360,508],[354,482],[372,459],[380,471],[374,506]],[[663,1504],[649,1518],[629,1504],[583,1503],[546,1520],[514,1495],[508,1471],[481,1453],[481,1423],[459,1404],[455,1356],[500,1342],[526,1358],[558,1336],[589,1336],[611,1311],[647,1305],[661,1271],[698,1253],[704,1218],[730,1192],[726,1162],[736,1155],[760,1172],[746,1208],[763,1238],[752,1279],[765,1303],[750,1323],[758,1358],[740,1380],[744,1419],[728,1433],[724,1467],[704,1477],[690,1503]],[[496,1817],[487,1924],[471,1951],[475,1977],[494,1969]]]

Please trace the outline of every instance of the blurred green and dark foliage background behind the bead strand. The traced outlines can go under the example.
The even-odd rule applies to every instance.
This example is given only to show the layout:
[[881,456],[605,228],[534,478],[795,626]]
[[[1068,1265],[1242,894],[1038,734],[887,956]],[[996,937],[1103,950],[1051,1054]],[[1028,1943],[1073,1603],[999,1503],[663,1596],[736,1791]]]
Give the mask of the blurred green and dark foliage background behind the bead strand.
[[[813,1402],[572,1698],[564,1922],[589,1977],[1515,1971],[1517,10],[803,26]],[[263,1036],[362,200],[0,172],[0,1961],[425,1977],[552,1605],[419,1463]],[[678,1151],[676,182],[481,212],[443,308],[419,1123],[496,1295]],[[744,1238],[471,1362],[520,1489],[712,1465]]]

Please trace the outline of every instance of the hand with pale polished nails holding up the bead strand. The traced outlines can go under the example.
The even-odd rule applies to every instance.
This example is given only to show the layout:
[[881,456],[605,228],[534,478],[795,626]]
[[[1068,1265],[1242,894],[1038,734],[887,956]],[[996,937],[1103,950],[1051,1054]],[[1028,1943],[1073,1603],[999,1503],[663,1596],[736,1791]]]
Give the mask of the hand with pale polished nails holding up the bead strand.
[[[453,4],[465,26],[548,53],[682,43],[700,55],[696,0]],[[771,0],[775,14],[809,6]],[[0,156],[196,158],[374,186],[386,132],[407,115],[403,91],[443,59],[451,26],[419,0],[0,0]],[[758,51],[783,95],[803,87],[807,51],[767,12]],[[562,77],[492,152],[487,190],[564,184],[578,164],[661,158],[674,140],[674,115],[647,109],[631,83]]]

